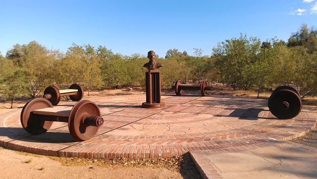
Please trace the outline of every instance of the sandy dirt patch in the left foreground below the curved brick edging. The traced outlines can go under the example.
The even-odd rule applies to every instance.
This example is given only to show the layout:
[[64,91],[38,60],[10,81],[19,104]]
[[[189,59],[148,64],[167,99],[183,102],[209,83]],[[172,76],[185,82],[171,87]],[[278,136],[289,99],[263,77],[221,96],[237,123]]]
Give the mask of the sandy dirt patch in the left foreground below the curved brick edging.
[[[103,161],[47,157],[0,147],[0,179],[200,179],[190,156],[180,169],[162,164],[123,166]],[[113,161],[111,161],[113,162]],[[114,161],[115,162],[115,161]],[[168,161],[166,161],[168,162]],[[133,163],[130,161],[130,163]]]

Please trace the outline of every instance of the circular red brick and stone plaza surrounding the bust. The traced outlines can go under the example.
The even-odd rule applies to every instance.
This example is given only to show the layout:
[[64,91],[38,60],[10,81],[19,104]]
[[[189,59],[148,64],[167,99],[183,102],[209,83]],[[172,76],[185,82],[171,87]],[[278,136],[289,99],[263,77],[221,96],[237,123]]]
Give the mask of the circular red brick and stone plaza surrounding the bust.
[[[30,135],[21,127],[19,109],[0,117],[0,146],[50,156],[105,159],[169,158],[190,152],[205,178],[229,179],[238,172],[229,164],[241,163],[241,171],[248,171],[243,170],[251,165],[246,155],[255,155],[252,161],[259,165],[268,161],[266,168],[279,165],[277,159],[268,159],[280,151],[278,145],[316,128],[316,108],[307,106],[296,118],[279,120],[262,99],[212,95],[162,95],[162,99],[165,108],[143,109],[145,95],[90,98],[105,122],[94,138],[82,142],[71,137],[63,122],[54,122],[46,133]],[[74,104],[60,102],[59,106],[71,109]],[[267,153],[261,153],[264,149]],[[316,150],[308,150],[317,156]],[[256,165],[252,171],[266,168]],[[316,175],[316,167],[312,170]]]

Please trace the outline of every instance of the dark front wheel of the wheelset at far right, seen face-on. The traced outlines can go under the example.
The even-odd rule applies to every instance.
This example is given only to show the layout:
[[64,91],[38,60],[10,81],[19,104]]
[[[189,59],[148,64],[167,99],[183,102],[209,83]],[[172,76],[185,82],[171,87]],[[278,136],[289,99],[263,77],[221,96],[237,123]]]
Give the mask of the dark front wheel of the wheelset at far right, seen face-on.
[[269,111],[278,119],[292,119],[302,109],[302,99],[291,89],[281,89],[271,94],[268,99]]

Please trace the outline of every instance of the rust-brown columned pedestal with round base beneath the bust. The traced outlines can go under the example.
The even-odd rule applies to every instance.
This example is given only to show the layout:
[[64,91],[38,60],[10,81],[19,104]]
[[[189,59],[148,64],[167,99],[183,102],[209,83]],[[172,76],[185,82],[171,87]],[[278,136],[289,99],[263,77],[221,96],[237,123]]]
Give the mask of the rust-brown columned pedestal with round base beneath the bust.
[[150,70],[145,72],[146,81],[146,102],[142,103],[143,108],[163,108],[165,103],[160,99],[160,72]]

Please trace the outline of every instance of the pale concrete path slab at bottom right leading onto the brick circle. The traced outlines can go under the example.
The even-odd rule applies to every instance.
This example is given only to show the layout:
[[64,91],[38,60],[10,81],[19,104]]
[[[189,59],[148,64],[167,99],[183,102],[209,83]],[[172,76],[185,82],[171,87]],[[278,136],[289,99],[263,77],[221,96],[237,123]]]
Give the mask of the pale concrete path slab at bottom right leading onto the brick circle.
[[238,152],[191,153],[205,178],[212,178],[211,169],[222,179],[317,178],[317,149],[289,141]]

